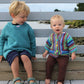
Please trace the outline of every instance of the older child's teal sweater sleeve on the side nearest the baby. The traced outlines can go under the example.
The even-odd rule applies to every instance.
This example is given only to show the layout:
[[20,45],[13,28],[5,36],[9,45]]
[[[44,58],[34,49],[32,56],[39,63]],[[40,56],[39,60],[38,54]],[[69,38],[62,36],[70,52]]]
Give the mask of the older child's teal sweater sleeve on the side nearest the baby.
[[33,29],[29,26],[29,38],[30,38],[30,46],[32,51],[32,56],[35,57],[36,54],[36,40]]

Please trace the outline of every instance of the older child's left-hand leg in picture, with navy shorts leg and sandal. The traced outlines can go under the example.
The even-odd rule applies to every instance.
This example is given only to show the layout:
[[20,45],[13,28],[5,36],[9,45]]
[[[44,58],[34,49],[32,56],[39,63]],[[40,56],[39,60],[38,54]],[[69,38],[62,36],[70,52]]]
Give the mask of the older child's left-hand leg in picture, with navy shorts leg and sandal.
[[11,66],[11,70],[14,76],[13,82],[20,82],[19,78],[19,54],[16,50],[13,50],[8,53],[6,60]]

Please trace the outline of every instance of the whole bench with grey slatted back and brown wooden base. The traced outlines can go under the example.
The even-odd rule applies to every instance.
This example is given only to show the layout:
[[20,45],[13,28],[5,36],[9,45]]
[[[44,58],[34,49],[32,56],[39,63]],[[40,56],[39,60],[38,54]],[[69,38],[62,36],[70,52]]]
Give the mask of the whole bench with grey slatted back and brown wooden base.
[[[24,0],[26,3],[84,3],[84,0]],[[10,3],[10,0],[0,0],[0,4]],[[50,20],[51,16],[59,14],[64,17],[65,20],[84,20],[84,12],[31,12],[28,21],[40,21],[40,20]],[[0,12],[0,25],[5,22],[11,21],[8,12]],[[2,25],[3,26],[3,25]],[[0,28],[2,28],[0,26]],[[31,25],[32,26],[32,25]],[[33,28],[34,29],[34,28]],[[84,28],[75,29],[64,29],[63,31],[68,32],[72,37],[84,38]],[[1,31],[0,31],[1,32]],[[32,61],[33,74],[36,80],[43,81],[45,79],[45,63],[46,59],[42,58],[42,53],[44,52],[44,45],[47,37],[53,31],[49,29],[34,29],[36,37],[36,56],[37,60]],[[39,40],[40,39],[40,40]],[[39,44],[38,44],[39,42]],[[84,54],[84,45],[77,45],[77,54]],[[38,58],[40,56],[40,58]],[[77,57],[74,61],[69,61],[66,80],[84,80],[84,57]],[[27,76],[23,66],[20,66],[20,76],[23,80],[26,80]],[[57,65],[54,67],[52,74],[52,80],[57,79],[58,68]],[[12,80],[13,75],[11,73],[10,66],[6,61],[0,63],[0,80]],[[54,84],[54,83],[52,83]]]

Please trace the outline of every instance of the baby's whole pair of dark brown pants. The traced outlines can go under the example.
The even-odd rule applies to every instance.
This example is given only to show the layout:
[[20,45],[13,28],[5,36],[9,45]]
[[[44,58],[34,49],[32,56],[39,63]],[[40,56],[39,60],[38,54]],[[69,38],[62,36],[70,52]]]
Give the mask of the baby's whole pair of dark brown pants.
[[46,78],[51,79],[53,67],[56,63],[58,63],[58,82],[64,83],[66,68],[68,65],[69,57],[68,56],[59,56],[58,58],[53,58],[52,56],[48,56],[46,62]]

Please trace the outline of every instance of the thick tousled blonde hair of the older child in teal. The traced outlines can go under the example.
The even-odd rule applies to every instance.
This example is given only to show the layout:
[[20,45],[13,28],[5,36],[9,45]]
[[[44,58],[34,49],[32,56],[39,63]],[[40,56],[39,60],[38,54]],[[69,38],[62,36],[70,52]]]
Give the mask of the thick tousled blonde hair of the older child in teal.
[[26,14],[29,15],[30,9],[24,1],[13,1],[9,7],[10,15],[13,13],[16,16],[20,12],[26,12]]

